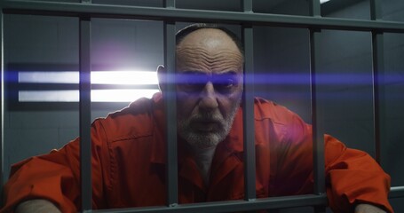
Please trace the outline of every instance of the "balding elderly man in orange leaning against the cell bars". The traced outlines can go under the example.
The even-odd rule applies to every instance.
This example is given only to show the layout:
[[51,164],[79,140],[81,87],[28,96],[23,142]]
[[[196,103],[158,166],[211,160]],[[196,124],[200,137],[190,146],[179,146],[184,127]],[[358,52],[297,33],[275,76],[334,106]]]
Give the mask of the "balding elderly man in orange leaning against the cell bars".
[[[177,35],[179,203],[242,199],[242,72],[238,38],[193,25]],[[159,76],[164,68],[158,68]],[[162,80],[162,78],[160,78]],[[93,208],[164,205],[162,93],[92,123]],[[312,127],[283,106],[255,99],[257,198],[313,193]],[[75,212],[79,138],[13,166],[2,212]],[[336,212],[392,212],[390,177],[366,153],[325,136],[329,205]]]

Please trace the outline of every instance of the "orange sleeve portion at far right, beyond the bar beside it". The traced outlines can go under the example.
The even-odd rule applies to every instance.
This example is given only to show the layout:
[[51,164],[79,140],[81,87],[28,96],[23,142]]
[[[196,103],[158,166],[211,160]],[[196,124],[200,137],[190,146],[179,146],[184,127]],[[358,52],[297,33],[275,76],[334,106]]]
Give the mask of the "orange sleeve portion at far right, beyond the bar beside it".
[[388,201],[390,176],[367,153],[347,148],[325,136],[326,180],[329,206],[335,212],[353,212],[358,203],[393,212]]

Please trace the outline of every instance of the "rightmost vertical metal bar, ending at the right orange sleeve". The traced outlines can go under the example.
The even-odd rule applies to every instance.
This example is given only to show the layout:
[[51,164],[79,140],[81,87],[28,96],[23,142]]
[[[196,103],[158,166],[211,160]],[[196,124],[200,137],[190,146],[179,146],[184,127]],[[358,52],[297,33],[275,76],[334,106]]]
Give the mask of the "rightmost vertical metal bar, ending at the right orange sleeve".
[[[370,1],[371,20],[382,19],[382,7],[379,0]],[[381,141],[385,139],[384,126],[384,35],[372,31],[372,63],[373,63],[373,125],[375,132],[375,158],[381,161]]]

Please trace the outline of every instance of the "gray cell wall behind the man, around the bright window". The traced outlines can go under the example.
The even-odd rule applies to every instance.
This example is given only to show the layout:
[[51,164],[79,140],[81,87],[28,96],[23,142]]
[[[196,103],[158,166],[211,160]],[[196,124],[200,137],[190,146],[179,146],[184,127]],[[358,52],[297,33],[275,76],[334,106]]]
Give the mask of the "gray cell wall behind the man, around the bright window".
[[[272,12],[306,15],[308,5],[279,4]],[[329,17],[368,19],[368,1],[325,14]],[[385,20],[404,21],[404,1],[384,0]],[[179,24],[178,28],[185,24]],[[232,27],[239,30],[238,27]],[[4,16],[4,65],[77,65],[78,20],[22,15]],[[306,29],[255,27],[255,68],[262,83],[257,96],[273,99],[311,122],[309,82],[309,35]],[[238,32],[240,33],[240,32]],[[364,32],[323,30],[320,37],[321,74],[329,83],[321,86],[324,96],[325,130],[347,146],[374,155],[371,88],[371,35]],[[93,20],[93,67],[139,67],[154,70],[163,63],[162,22]],[[385,34],[384,132],[382,166],[392,176],[392,185],[404,185],[404,36]],[[9,70],[11,71],[11,70]],[[268,75],[269,74],[269,75]],[[349,78],[346,78],[349,75]],[[269,83],[269,84],[266,84]],[[7,101],[8,99],[6,99]],[[122,106],[127,105],[124,103]],[[119,109],[94,109],[92,119]],[[17,110],[4,112],[5,165],[59,148],[78,135],[78,110]],[[6,171],[8,175],[8,170]],[[403,199],[394,199],[397,212]],[[309,209],[310,210],[310,209]],[[302,212],[302,209],[298,210]],[[310,212],[310,211],[309,211]]]

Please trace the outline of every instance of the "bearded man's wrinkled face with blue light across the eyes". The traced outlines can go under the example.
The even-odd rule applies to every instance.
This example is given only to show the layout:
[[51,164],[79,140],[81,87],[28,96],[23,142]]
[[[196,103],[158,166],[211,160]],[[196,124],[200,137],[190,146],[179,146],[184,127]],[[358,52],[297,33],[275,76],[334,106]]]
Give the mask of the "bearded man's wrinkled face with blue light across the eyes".
[[229,133],[242,99],[242,53],[218,29],[194,31],[177,45],[178,133],[194,148]]

